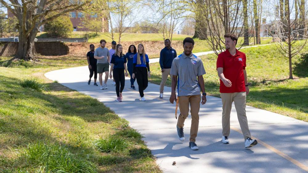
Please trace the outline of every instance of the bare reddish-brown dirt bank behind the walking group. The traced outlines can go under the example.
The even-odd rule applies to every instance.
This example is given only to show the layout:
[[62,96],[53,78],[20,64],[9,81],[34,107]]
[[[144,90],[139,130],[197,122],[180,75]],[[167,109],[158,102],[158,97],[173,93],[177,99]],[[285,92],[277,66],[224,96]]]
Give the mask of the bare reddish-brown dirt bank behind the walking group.
[[[138,44],[142,43],[144,45],[144,49],[150,58],[159,57],[160,50],[164,48],[163,41],[136,41],[136,42],[121,42],[123,46],[123,52],[127,53],[128,47],[133,44],[136,47]],[[99,43],[95,42],[86,42],[86,43],[66,43],[69,47],[69,54],[66,56],[74,56],[74,57],[85,57],[87,52],[90,51],[90,44],[93,44],[95,48],[99,47]],[[172,48],[175,50],[183,49],[183,41],[172,41]],[[111,49],[111,43],[107,42],[108,49]]]

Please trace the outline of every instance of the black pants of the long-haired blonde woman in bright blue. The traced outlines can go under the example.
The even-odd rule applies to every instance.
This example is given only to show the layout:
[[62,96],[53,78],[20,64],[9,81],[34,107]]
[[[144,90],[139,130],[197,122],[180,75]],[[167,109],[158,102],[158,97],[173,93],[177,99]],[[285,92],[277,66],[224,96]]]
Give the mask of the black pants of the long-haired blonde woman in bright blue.
[[147,67],[136,67],[136,79],[138,83],[139,94],[144,96],[143,91],[148,87],[148,69]]

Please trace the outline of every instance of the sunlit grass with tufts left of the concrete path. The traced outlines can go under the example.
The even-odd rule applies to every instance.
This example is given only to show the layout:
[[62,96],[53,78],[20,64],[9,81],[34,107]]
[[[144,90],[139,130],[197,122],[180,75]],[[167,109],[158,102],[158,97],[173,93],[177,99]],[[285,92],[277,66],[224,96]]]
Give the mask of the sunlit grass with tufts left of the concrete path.
[[0,172],[161,172],[128,121],[44,77],[84,58],[0,59]]

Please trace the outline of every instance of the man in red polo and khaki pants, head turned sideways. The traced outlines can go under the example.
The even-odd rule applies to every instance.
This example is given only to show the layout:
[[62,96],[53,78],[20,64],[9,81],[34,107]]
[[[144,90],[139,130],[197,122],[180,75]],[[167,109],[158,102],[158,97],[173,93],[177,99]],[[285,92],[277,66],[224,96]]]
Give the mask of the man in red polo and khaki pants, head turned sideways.
[[238,51],[237,36],[225,34],[226,51],[217,58],[217,72],[220,78],[220,96],[222,100],[222,143],[229,143],[230,112],[234,101],[237,119],[245,140],[245,148],[257,145],[251,139],[246,117],[246,95],[249,93],[246,75],[246,55]]

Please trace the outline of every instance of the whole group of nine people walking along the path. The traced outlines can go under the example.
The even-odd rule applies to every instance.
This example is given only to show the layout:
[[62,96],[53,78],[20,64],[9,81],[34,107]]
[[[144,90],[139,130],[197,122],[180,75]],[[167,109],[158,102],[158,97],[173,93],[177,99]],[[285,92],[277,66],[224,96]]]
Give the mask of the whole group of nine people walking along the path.
[[[234,102],[237,111],[237,118],[240,123],[241,131],[244,136],[245,148],[253,147],[257,140],[251,139],[248,121],[246,117],[246,95],[249,94],[249,86],[246,74],[246,56],[243,52],[236,49],[237,36],[234,34],[225,34],[226,50],[218,55],[217,74],[220,78],[220,93],[222,99],[222,143],[229,143],[230,134],[230,112]],[[170,103],[179,105],[180,115],[177,120],[176,129],[180,141],[185,140],[184,122],[188,117],[189,106],[192,117],[190,128],[189,147],[197,150],[196,137],[199,126],[200,102],[206,103],[206,92],[203,75],[205,69],[199,57],[192,53],[194,47],[193,38],[185,38],[183,41],[183,53],[178,55],[176,50],[172,49],[169,39],[164,41],[165,48],[160,51],[160,67],[162,80],[160,83],[160,96],[163,98],[164,85],[170,75],[171,95]],[[94,74],[94,85],[96,84],[96,71],[99,73],[99,83],[101,89],[107,89],[107,79],[113,77],[115,82],[116,101],[122,102],[122,91],[125,85],[125,76],[128,72],[131,76],[131,89],[135,90],[134,82],[137,79],[139,94],[142,101],[144,90],[148,86],[148,77],[151,76],[149,58],[145,53],[144,46],[139,44],[137,49],[130,45],[128,52],[123,53],[123,47],[120,44],[112,42],[113,50],[105,48],[106,41],[100,41],[100,47],[94,50],[94,45],[90,45],[90,51],[87,53],[87,59],[90,70],[90,79]],[[95,64],[96,62],[96,64]],[[109,72],[110,64],[110,72]],[[95,69],[97,67],[97,70]],[[125,73],[124,73],[125,71]],[[105,73],[105,81],[102,82],[102,75]],[[177,86],[177,90],[176,90]],[[201,95],[202,92],[202,95]],[[177,93],[177,96],[176,96]],[[177,117],[176,117],[177,118]]]

